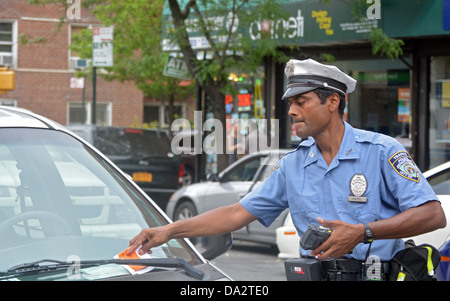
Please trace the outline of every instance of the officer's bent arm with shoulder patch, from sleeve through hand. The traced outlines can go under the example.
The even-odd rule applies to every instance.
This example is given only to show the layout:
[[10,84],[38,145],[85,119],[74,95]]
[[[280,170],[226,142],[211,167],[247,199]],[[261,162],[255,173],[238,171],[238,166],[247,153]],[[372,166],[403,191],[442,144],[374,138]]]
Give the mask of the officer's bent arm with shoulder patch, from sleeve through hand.
[[[447,221],[441,204],[411,156],[395,143],[386,149],[380,171],[386,187],[381,198],[389,207],[398,208],[399,213],[368,223],[374,239],[405,238],[444,228]],[[333,228],[333,234],[312,255],[324,252],[323,258],[338,257],[364,240],[363,224],[320,218],[319,222]]]

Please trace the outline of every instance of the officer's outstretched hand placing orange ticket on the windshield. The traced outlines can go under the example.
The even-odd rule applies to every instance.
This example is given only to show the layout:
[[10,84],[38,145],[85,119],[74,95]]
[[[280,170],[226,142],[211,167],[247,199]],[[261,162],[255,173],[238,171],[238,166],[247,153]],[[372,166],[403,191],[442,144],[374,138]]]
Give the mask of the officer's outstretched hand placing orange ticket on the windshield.
[[169,237],[164,227],[144,229],[130,240],[130,248],[127,253],[131,255],[141,245],[142,248],[139,250],[139,254],[151,253],[151,248],[160,246],[168,240]]

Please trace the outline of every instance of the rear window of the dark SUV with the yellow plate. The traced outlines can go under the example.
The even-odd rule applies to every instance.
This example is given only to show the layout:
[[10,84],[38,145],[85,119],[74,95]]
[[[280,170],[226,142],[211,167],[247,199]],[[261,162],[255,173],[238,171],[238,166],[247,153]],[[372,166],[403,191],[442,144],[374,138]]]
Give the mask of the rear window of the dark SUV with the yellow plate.
[[166,132],[97,127],[94,146],[109,156],[166,156],[171,152],[170,140]]

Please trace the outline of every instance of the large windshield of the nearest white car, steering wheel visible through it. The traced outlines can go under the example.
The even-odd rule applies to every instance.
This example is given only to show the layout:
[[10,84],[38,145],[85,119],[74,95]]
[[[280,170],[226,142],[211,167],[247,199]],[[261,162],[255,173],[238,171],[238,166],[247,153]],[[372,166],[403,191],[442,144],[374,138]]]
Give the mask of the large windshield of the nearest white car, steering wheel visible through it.
[[[143,228],[166,223],[106,160],[55,130],[0,130],[0,270],[51,258],[110,259]],[[199,259],[183,240],[153,258]]]

